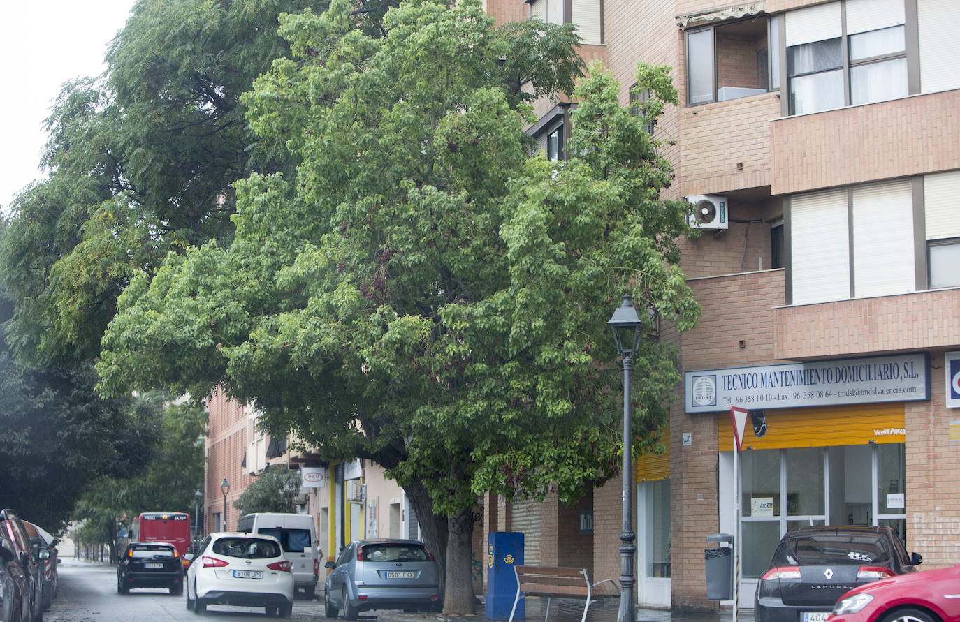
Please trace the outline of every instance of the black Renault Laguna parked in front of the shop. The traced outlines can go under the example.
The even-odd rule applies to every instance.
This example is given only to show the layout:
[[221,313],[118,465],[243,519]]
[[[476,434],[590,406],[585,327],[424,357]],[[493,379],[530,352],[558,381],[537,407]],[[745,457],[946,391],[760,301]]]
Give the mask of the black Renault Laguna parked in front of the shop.
[[853,587],[923,562],[889,527],[802,527],[787,532],[756,585],[756,622],[821,622]]

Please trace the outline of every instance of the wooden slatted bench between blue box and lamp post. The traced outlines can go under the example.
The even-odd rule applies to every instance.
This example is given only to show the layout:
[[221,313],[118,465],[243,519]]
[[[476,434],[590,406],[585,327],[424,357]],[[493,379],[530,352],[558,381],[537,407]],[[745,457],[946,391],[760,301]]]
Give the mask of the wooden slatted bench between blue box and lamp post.
[[591,585],[587,568],[516,565],[514,573],[516,574],[516,598],[514,609],[510,610],[510,622],[514,621],[516,604],[521,598],[527,596],[547,597],[544,622],[550,617],[550,602],[554,598],[584,598],[586,603],[580,622],[586,622],[590,605],[597,602],[594,596],[613,596],[620,593],[620,587],[612,579],[605,579]]

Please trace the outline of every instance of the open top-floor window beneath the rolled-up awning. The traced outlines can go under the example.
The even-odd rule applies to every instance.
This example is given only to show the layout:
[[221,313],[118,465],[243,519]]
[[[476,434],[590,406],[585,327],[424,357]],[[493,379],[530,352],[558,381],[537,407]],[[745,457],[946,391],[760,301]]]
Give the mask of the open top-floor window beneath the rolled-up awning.
[[686,36],[687,103],[723,102],[780,88],[780,17],[755,17]]

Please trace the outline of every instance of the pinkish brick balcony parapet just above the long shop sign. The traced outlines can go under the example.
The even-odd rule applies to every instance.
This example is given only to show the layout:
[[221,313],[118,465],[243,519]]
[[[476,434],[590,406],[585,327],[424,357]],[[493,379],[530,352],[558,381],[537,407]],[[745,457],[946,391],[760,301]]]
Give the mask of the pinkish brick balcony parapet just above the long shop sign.
[[960,288],[773,309],[774,356],[843,358],[960,347]]

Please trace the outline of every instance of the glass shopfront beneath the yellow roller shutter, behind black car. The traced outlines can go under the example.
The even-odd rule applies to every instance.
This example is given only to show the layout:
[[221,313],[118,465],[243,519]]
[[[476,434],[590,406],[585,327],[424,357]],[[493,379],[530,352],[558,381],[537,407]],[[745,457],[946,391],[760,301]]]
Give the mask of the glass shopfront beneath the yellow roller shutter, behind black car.
[[906,540],[903,443],[740,454],[743,577],[766,570],[780,537],[804,525],[889,525]]

